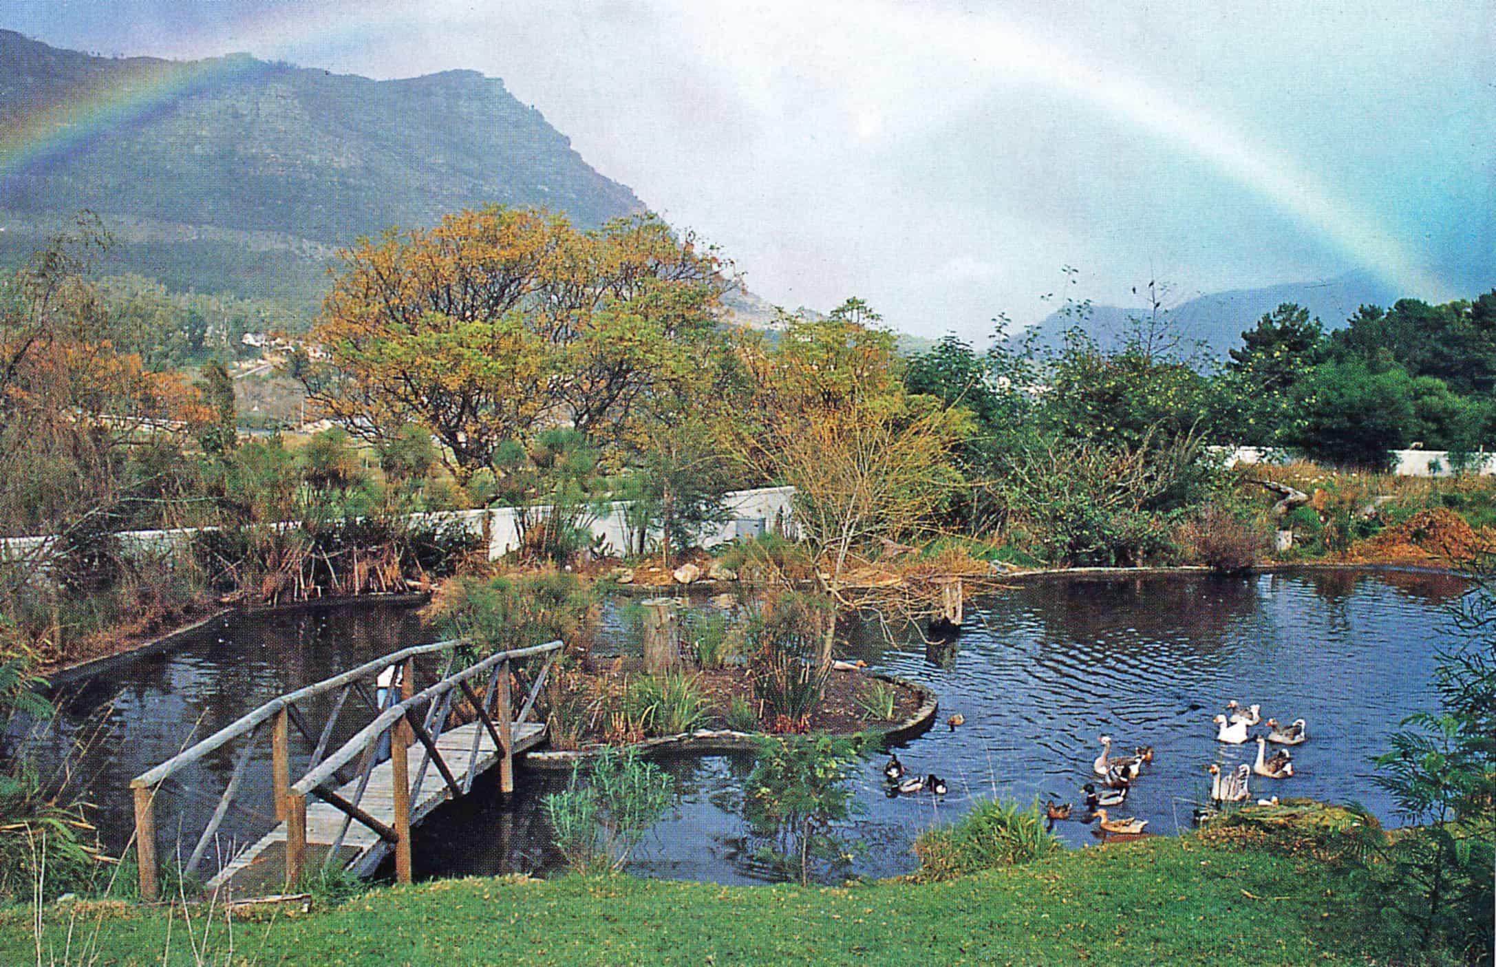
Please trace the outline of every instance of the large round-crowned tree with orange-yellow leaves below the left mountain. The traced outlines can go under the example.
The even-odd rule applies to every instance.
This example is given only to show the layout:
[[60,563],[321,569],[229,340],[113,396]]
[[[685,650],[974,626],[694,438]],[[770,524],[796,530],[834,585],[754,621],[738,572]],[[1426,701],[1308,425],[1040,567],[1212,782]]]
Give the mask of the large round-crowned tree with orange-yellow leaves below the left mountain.
[[491,205],[343,259],[310,398],[371,443],[428,428],[461,482],[546,428],[622,439],[661,376],[720,341],[729,284],[714,250],[649,214],[583,232]]

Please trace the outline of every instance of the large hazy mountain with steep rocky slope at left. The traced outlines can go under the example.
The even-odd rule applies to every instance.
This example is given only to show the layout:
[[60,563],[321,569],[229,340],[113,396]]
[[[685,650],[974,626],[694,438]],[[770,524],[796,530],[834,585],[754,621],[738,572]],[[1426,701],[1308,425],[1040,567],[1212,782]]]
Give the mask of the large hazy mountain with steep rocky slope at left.
[[310,307],[338,247],[486,202],[586,228],[645,208],[471,70],[103,58],[0,30],[0,262],[90,208],[117,240],[105,271]]

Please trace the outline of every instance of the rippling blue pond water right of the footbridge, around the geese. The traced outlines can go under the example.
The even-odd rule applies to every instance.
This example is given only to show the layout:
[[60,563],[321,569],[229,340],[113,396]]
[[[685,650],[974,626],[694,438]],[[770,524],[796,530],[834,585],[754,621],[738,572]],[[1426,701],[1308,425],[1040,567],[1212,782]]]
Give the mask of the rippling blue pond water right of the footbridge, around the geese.
[[[1441,608],[1465,587],[1439,575],[1352,570],[1065,579],[978,602],[975,627],[953,642],[890,644],[863,624],[854,638],[860,657],[929,683],[941,719],[959,711],[966,722],[954,732],[939,725],[899,750],[913,772],[948,777],[941,799],[884,796],[883,757],[868,760],[859,775],[865,814],[853,829],[862,849],[848,871],[911,871],[910,846],[922,829],[993,795],[1074,801],[1080,816],[1077,789],[1091,780],[1103,733],[1122,748],[1156,751],[1121,811],[1147,819],[1149,831],[1185,829],[1207,789],[1206,766],[1255,756],[1255,744],[1215,742],[1210,719],[1230,699],[1261,704],[1264,717],[1309,722],[1310,739],[1293,750],[1297,774],[1254,775],[1254,795],[1355,799],[1393,825],[1370,757],[1387,748],[1402,717],[1433,707],[1433,653],[1448,635]],[[776,879],[745,840],[741,801],[751,762],[711,756],[666,766],[684,790],[679,814],[654,831],[630,870],[726,883]],[[417,862],[432,873],[549,867],[555,858],[534,819],[537,799],[564,780],[531,772],[522,781],[525,793],[510,804],[444,807],[450,822],[420,834]],[[518,846],[501,858],[497,847],[480,855],[486,847],[473,844],[492,844],[495,829]],[[1095,841],[1089,829],[1056,825],[1074,846]]]

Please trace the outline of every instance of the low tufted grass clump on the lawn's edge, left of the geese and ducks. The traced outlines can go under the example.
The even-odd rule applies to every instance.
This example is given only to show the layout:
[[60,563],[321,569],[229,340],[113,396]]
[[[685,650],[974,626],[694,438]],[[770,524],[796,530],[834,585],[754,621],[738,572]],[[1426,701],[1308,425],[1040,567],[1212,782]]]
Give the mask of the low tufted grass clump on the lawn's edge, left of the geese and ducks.
[[920,882],[948,880],[978,870],[1031,862],[1061,849],[1049,832],[1038,801],[1029,807],[987,799],[950,826],[929,829],[914,841]]

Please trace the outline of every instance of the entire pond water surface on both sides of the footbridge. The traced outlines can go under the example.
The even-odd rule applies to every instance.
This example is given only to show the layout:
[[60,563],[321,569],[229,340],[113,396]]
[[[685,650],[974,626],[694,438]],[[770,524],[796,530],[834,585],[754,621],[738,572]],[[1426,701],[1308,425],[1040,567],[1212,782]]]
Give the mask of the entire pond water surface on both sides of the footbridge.
[[[1053,796],[1079,807],[1076,790],[1089,780],[1101,733],[1122,748],[1156,750],[1123,811],[1147,819],[1149,831],[1185,829],[1204,795],[1206,766],[1230,768],[1255,754],[1255,744],[1213,741],[1210,719],[1228,699],[1261,704],[1264,719],[1309,722],[1309,741],[1294,750],[1297,774],[1254,777],[1254,796],[1355,799],[1394,823],[1393,805],[1372,781],[1370,757],[1385,750],[1403,716],[1432,708],[1433,653],[1453,633],[1444,612],[1463,591],[1457,578],[1354,570],[1064,579],[978,602],[969,630],[953,645],[925,645],[916,636],[890,642],[877,629],[860,629],[854,648],[871,666],[931,684],[941,696],[941,722],[957,711],[966,722],[954,732],[938,725],[899,748],[911,771],[948,778],[944,798],[890,799],[883,756],[866,762],[859,777],[865,811],[847,831],[859,843],[854,859],[824,873],[907,873],[920,831],[993,795],[1023,802]],[[610,615],[613,633],[624,624]],[[78,690],[42,748],[55,756],[102,717],[79,775],[103,808],[106,834],[123,841],[130,823],[123,789],[132,775],[274,695],[425,639],[411,612],[386,608],[241,618]],[[630,868],[726,883],[776,879],[757,859],[760,844],[741,819],[751,762],[705,756],[666,765],[682,792],[679,808]],[[212,808],[232,760],[224,754],[202,766],[174,792],[199,817],[197,826],[187,820],[193,829]],[[268,762],[250,777],[268,784]],[[507,802],[480,783],[480,795],[443,807],[420,828],[417,874],[551,867],[539,798],[562,783],[524,772],[521,793]],[[232,831],[244,838],[263,831],[265,820],[230,814]],[[1058,823],[1056,832],[1076,846],[1095,841],[1076,822]]]

